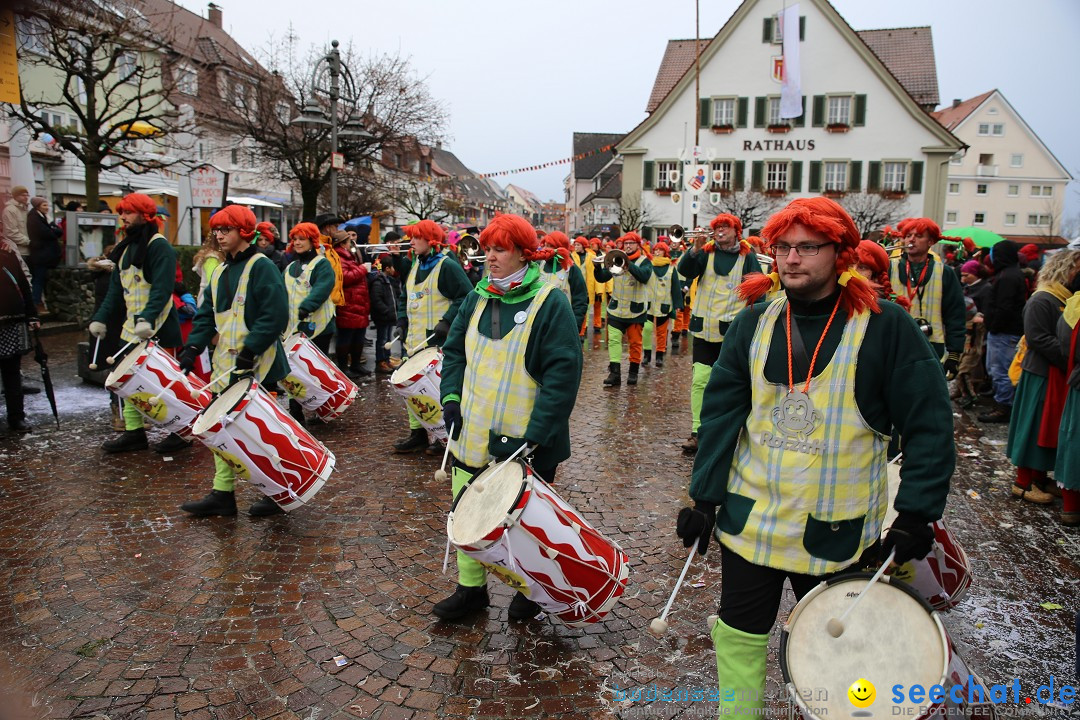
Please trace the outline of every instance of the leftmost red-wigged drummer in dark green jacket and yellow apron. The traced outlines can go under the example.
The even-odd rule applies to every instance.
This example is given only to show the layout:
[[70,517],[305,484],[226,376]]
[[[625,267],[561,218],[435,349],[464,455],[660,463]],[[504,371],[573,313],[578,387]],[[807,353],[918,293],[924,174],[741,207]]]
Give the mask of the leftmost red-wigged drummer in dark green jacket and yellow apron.
[[[139,192],[125,195],[117,205],[124,226],[124,239],[114,253],[120,261],[112,269],[109,290],[90,323],[90,334],[105,338],[109,317],[124,318],[120,339],[139,343],[157,337],[158,344],[175,352],[184,344],[180,322],[173,303],[176,286],[176,250],[161,234],[158,204]],[[122,311],[122,312],[121,312]],[[145,450],[148,447],[143,416],[131,403],[123,403],[124,432],[106,440],[106,452]],[[166,438],[165,443],[172,441]]]

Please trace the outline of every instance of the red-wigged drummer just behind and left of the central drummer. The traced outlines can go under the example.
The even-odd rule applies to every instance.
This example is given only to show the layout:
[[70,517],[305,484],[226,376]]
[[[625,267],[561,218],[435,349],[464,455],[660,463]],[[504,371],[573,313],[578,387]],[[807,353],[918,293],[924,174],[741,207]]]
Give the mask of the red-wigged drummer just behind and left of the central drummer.
[[[453,260],[445,262],[444,231],[433,220],[420,220],[405,228],[405,236],[413,248],[413,264],[402,269],[406,277],[405,291],[397,299],[397,327],[402,332],[402,348],[440,347],[450,331],[450,324],[458,314],[461,301],[472,291],[469,276]],[[428,443],[428,431],[419,418],[408,411],[408,437],[394,444],[394,452],[442,454],[438,441]]]

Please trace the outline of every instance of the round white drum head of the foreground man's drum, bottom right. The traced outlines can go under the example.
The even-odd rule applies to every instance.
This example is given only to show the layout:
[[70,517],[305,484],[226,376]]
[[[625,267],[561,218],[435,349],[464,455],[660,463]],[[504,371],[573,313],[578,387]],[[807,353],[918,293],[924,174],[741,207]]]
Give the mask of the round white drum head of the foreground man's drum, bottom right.
[[[814,717],[848,718],[885,715],[918,718],[926,703],[892,703],[892,687],[923,688],[942,683],[949,650],[945,628],[930,606],[910,588],[877,582],[843,621],[843,634],[826,626],[839,619],[870,575],[843,575],[808,593],[795,607],[781,638],[780,663],[785,682],[795,687]],[[855,707],[848,690],[858,680],[875,687],[875,701]],[[897,709],[897,708],[905,709]],[[822,711],[824,710],[824,711]]]

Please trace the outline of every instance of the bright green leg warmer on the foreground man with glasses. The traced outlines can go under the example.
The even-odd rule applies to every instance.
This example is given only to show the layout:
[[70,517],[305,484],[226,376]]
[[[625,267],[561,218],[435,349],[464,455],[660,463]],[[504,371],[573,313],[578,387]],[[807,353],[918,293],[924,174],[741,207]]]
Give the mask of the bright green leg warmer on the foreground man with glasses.
[[769,636],[737,630],[719,619],[712,635],[720,691],[719,717],[764,718]]

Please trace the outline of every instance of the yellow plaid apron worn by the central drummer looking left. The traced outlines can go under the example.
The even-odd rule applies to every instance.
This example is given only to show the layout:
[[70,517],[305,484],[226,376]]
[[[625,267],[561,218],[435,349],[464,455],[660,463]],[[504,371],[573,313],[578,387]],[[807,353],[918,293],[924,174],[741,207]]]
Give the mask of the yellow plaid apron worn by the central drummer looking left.
[[[534,297],[525,315],[501,340],[480,331],[480,320],[488,304],[482,297],[473,310],[465,331],[465,377],[461,383],[463,426],[458,439],[450,440],[450,452],[470,467],[483,467],[492,458],[488,452],[490,436],[524,437],[536,403],[539,383],[525,369],[525,349],[532,325],[544,300],[555,288],[544,285]],[[492,308],[491,312],[499,312]]]

